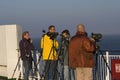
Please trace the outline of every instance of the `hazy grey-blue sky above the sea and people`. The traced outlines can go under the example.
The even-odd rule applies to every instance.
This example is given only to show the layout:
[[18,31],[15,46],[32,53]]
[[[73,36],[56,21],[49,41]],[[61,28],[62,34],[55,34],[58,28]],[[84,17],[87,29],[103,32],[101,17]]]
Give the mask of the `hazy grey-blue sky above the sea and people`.
[[31,37],[50,25],[74,35],[81,23],[88,34],[120,35],[120,0],[0,0],[0,25],[18,24]]

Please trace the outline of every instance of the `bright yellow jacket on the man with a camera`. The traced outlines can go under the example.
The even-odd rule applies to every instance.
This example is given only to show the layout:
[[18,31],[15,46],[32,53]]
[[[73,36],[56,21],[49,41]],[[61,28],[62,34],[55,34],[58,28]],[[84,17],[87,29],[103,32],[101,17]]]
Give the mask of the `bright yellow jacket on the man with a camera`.
[[41,48],[43,49],[43,60],[54,60],[57,57],[58,41],[50,39],[48,35],[44,35],[41,39]]

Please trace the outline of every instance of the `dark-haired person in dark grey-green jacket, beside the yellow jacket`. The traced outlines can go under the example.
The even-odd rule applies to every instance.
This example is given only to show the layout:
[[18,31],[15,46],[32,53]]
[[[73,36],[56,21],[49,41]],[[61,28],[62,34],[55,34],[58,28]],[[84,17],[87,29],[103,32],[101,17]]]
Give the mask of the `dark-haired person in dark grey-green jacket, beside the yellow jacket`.
[[62,68],[62,70],[60,69],[61,70],[60,80],[74,80],[74,71],[69,68],[69,63],[68,63],[69,41],[70,41],[70,32],[69,30],[65,29],[62,31],[62,34],[61,34],[61,47],[60,47],[60,53],[59,53],[61,68]]

